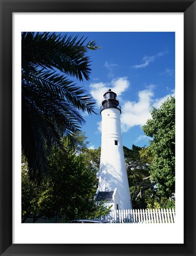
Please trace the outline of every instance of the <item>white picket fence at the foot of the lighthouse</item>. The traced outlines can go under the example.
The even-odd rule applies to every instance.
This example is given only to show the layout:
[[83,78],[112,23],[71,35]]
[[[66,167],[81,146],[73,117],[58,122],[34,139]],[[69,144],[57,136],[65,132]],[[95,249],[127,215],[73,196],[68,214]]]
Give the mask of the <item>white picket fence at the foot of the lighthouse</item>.
[[112,210],[99,217],[111,223],[174,223],[174,209]]

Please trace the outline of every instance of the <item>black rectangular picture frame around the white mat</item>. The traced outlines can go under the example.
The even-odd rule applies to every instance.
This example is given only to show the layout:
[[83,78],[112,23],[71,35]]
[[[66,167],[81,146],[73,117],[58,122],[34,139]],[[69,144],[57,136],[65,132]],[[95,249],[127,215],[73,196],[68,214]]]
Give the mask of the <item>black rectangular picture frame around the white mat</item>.
[[[1,255],[196,255],[195,0],[0,0]],[[12,13],[184,12],[184,244],[12,244]],[[96,235],[96,234],[94,234]],[[158,234],[155,234],[158,235]],[[153,238],[152,238],[153,242]]]

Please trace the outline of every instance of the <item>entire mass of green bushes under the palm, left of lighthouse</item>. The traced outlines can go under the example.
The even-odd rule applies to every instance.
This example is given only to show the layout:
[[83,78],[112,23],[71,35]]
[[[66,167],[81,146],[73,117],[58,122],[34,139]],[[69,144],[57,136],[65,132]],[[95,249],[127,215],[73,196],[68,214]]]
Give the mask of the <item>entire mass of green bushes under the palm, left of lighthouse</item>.
[[63,142],[65,150],[53,147],[49,158],[49,175],[41,184],[30,180],[27,162],[22,171],[22,217],[66,216],[67,221],[77,218],[99,217],[107,207],[94,200],[97,190],[96,172],[86,166],[84,157]]

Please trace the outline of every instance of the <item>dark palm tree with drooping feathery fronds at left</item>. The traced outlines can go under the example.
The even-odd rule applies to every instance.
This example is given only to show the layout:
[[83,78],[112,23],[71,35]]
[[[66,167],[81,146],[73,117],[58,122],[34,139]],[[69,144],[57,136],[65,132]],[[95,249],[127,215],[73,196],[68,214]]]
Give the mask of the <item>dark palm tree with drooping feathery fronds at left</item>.
[[89,80],[86,53],[98,48],[83,37],[22,33],[22,152],[34,180],[47,173],[51,147],[85,123],[81,111],[95,113],[92,97],[68,76]]

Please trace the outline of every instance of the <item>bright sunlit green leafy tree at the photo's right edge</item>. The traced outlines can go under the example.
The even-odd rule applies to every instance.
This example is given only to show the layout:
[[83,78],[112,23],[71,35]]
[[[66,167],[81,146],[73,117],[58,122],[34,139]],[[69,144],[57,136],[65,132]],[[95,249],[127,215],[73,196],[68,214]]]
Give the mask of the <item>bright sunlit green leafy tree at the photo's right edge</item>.
[[168,198],[175,193],[175,97],[169,97],[159,109],[153,107],[151,115],[143,126],[143,132],[153,137],[149,172],[157,193]]

